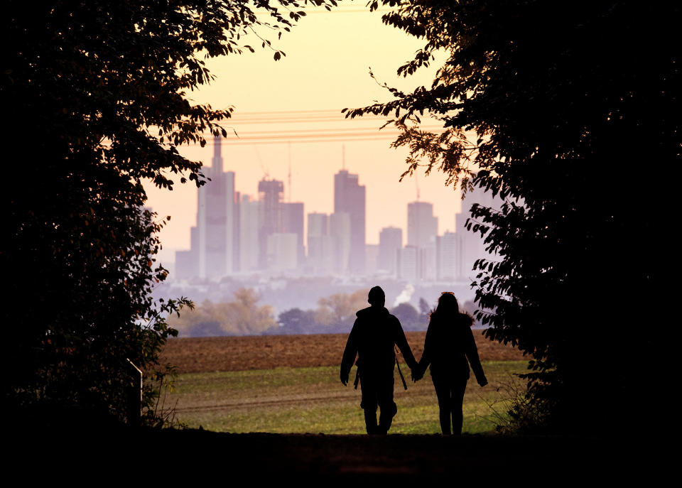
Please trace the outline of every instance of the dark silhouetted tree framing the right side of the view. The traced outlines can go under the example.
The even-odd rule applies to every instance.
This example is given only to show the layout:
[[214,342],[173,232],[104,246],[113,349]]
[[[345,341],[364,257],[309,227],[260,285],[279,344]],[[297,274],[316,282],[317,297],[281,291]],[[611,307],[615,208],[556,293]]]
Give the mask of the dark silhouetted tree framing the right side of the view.
[[[486,336],[533,357],[527,395],[541,428],[603,428],[605,411],[610,426],[632,425],[651,411],[642,364],[660,359],[651,316],[632,298],[652,303],[664,288],[655,256],[669,249],[682,146],[681,7],[381,4],[395,7],[384,23],[425,40],[399,73],[439,51],[446,59],[431,87],[387,87],[393,100],[347,115],[394,114],[394,146],[410,151],[404,175],[436,168],[448,184],[504,199],[501,211],[474,207],[467,222],[499,256],[477,261],[476,299],[491,310],[479,313]],[[443,131],[421,130],[423,116]]]

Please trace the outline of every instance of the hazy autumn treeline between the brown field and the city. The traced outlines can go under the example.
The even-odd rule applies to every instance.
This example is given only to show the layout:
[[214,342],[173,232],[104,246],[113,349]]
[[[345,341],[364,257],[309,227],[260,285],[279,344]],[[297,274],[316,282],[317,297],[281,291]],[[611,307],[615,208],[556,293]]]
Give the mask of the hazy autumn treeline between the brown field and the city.
[[[367,292],[335,293],[320,298],[315,310],[291,308],[275,318],[270,305],[259,305],[256,291],[240,288],[231,301],[205,300],[195,310],[183,311],[180,317],[173,316],[168,322],[178,329],[180,337],[347,333],[357,310],[369,306]],[[389,311],[400,320],[404,330],[426,330],[432,308],[420,298],[418,308],[401,303]],[[473,302],[463,303],[460,308],[470,315],[476,309]]]

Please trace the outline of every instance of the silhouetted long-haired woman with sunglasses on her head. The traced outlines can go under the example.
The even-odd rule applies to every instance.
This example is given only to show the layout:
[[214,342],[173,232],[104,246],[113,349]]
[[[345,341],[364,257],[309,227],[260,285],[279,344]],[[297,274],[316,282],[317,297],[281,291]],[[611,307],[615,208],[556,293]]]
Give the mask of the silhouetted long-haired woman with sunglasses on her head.
[[460,313],[453,293],[441,294],[438,307],[431,313],[418,376],[414,377],[415,380],[421,379],[431,364],[431,379],[438,396],[440,429],[443,430],[443,435],[451,433],[450,417],[455,435],[462,433],[462,403],[470,375],[469,364],[478,384],[485,386],[488,383],[471,332],[472,323],[469,315]]

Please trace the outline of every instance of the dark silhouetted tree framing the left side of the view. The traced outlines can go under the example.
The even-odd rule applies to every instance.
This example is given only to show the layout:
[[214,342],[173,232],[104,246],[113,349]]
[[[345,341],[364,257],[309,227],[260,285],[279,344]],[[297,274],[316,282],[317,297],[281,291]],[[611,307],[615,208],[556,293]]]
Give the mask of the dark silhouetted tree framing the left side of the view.
[[[74,404],[125,419],[131,360],[153,367],[186,299],[153,303],[163,224],[143,180],[205,183],[178,153],[226,132],[232,108],[193,104],[203,58],[253,50],[244,35],[288,31],[307,1],[62,0],[4,4],[0,101],[10,184],[0,266],[11,283],[3,398]],[[335,4],[334,0],[313,0]],[[268,13],[274,23],[256,16]],[[283,53],[263,39],[277,60]],[[21,163],[19,163],[21,162]],[[148,397],[147,397],[148,400]]]

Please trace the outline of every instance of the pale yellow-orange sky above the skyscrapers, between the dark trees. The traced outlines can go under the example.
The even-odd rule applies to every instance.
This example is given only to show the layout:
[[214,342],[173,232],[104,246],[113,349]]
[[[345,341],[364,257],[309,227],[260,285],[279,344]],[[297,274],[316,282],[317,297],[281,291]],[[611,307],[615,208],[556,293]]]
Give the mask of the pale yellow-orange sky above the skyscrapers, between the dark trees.
[[[384,26],[381,13],[369,13],[362,3],[332,12],[310,11],[276,44],[286,53],[277,62],[273,52],[261,49],[259,40],[252,37],[245,42],[257,45],[256,53],[210,60],[209,68],[217,79],[190,94],[195,102],[214,108],[234,106],[234,119],[225,126],[236,130],[241,139],[229,134],[222,143],[222,156],[224,168],[236,173],[237,191],[256,195],[257,182],[266,171],[271,178],[284,181],[288,198],[291,151],[291,201],[304,202],[306,214],[330,213],[333,175],[342,166],[345,145],[345,167],[358,173],[360,184],[367,187],[367,243],[377,244],[379,230],[387,226],[403,228],[406,239],[407,203],[416,200],[414,178],[398,181],[406,167],[406,151],[389,148],[390,134],[378,131],[382,119],[350,121],[340,111],[389,99],[389,93],[369,76],[369,67],[379,80],[401,89],[430,83],[433,69],[407,80],[395,75],[421,42]],[[319,134],[325,134],[322,141]],[[254,137],[261,142],[251,141]],[[212,151],[212,145],[181,149],[207,166]],[[420,200],[434,205],[439,233],[452,230],[455,212],[460,210],[459,193],[445,188],[445,178],[438,173],[417,180]],[[172,192],[151,185],[146,188],[148,206],[160,216],[172,216],[161,233],[161,259],[173,261],[175,249],[189,247],[197,189],[179,182]]]

